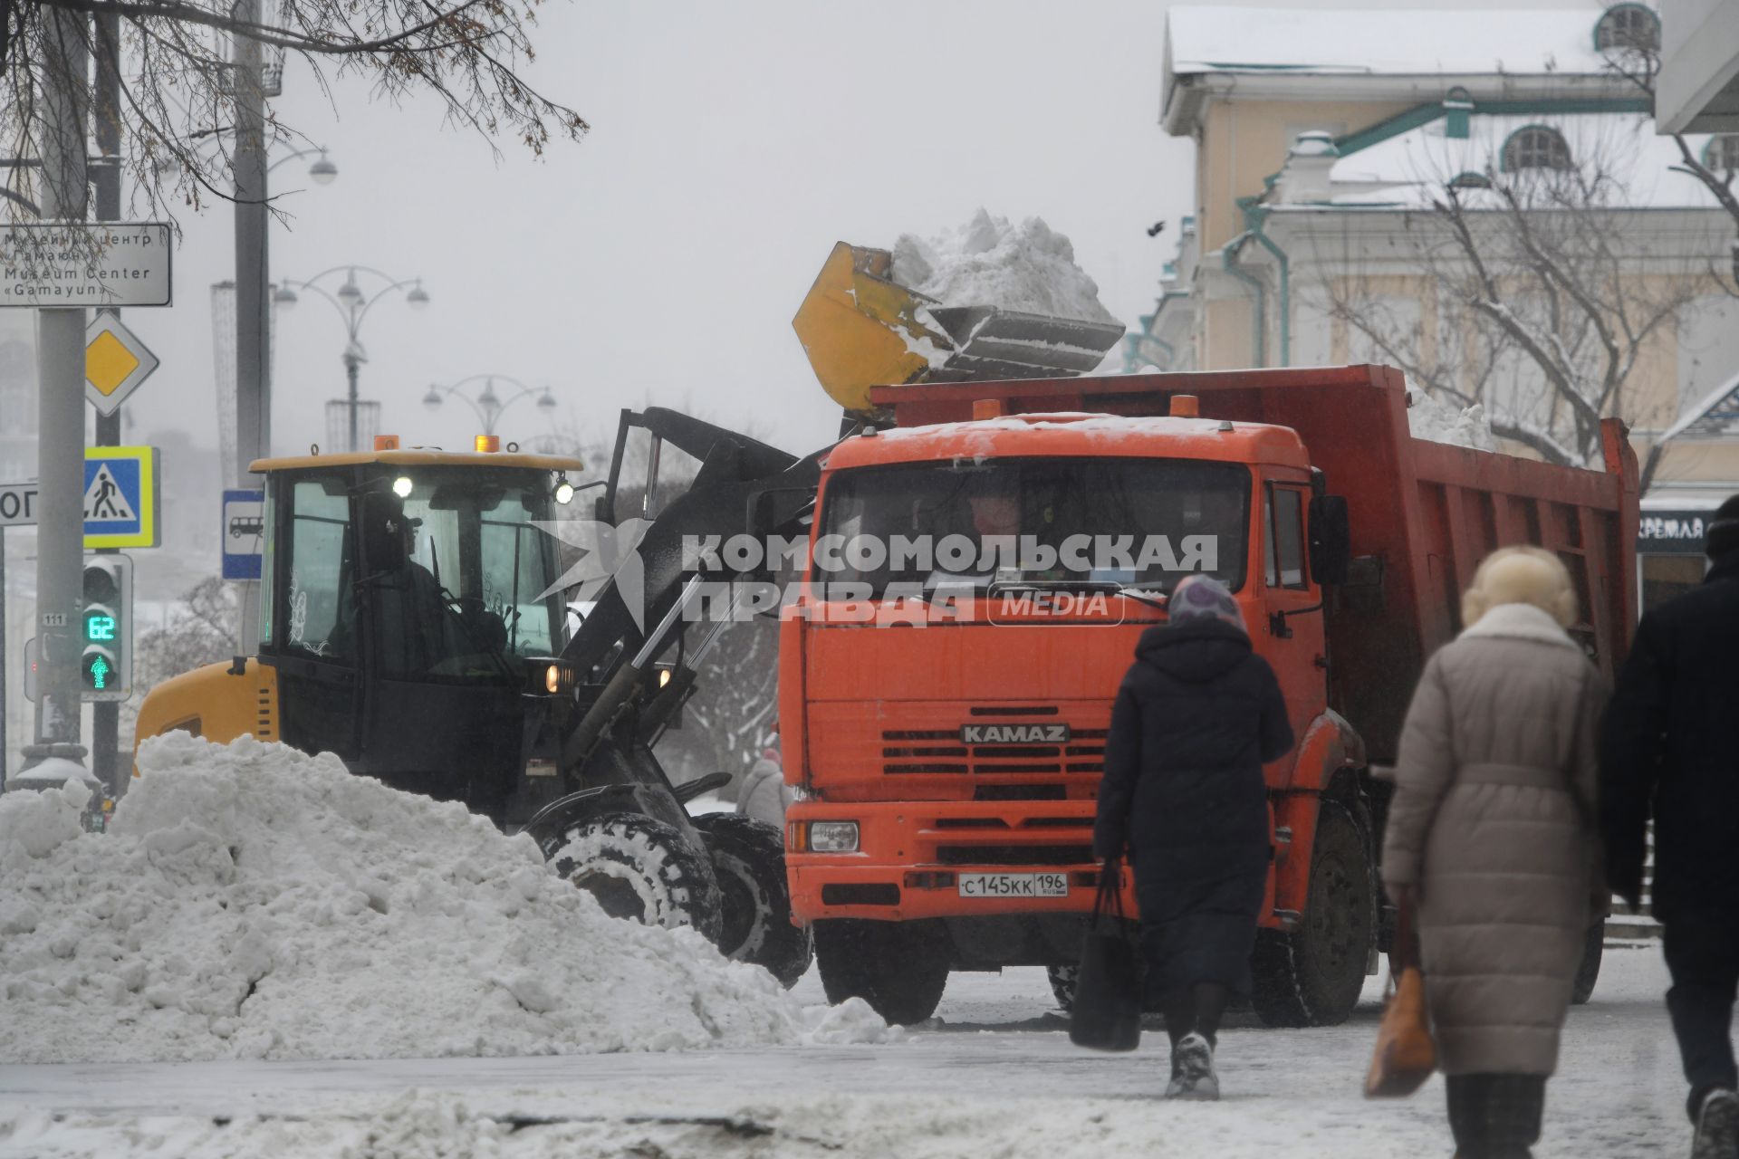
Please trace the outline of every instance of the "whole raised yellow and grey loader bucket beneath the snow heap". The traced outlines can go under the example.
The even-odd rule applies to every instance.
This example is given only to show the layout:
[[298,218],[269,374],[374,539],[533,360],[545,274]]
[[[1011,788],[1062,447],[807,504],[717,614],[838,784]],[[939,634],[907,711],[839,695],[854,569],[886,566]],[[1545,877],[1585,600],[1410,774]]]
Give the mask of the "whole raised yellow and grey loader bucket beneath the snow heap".
[[1116,321],[943,306],[890,278],[894,255],[840,242],[791,320],[828,396],[871,410],[870,387],[1087,374],[1123,337]]

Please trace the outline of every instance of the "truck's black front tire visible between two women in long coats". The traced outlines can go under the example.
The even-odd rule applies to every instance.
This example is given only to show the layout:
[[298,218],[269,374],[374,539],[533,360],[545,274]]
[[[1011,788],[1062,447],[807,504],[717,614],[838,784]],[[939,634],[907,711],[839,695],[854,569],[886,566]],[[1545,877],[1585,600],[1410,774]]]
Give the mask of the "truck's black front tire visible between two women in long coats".
[[1311,851],[1309,900],[1297,930],[1257,930],[1250,1004],[1271,1027],[1346,1022],[1365,989],[1376,930],[1370,843],[1346,806],[1323,801]]

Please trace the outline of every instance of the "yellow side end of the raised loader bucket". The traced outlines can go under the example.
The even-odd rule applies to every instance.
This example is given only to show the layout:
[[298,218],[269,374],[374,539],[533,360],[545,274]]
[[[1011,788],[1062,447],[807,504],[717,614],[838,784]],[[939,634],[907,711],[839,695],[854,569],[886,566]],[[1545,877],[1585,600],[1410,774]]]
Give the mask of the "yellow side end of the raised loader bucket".
[[903,384],[941,365],[953,346],[923,327],[922,299],[889,280],[894,255],[840,242],[791,320],[821,389],[849,412],[870,410],[870,387]]

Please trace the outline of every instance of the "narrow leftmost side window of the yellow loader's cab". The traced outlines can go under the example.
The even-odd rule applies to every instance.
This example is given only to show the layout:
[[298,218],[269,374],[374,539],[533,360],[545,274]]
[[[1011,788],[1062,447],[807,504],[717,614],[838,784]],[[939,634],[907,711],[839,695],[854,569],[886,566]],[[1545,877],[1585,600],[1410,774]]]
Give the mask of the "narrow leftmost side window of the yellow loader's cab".
[[350,488],[343,480],[303,480],[290,502],[285,643],[303,655],[353,662]]

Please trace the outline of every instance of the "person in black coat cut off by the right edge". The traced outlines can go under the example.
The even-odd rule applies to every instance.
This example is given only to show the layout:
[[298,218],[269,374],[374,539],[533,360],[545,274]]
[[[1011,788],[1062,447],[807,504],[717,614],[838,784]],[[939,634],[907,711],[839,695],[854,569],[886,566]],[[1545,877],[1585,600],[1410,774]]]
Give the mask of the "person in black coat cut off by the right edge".
[[1690,1081],[1694,1159],[1739,1156],[1732,1008],[1739,987],[1739,495],[1708,530],[1702,587],[1636,626],[1607,712],[1600,822],[1607,878],[1642,902],[1654,808],[1654,916],[1673,989],[1666,1008]]

